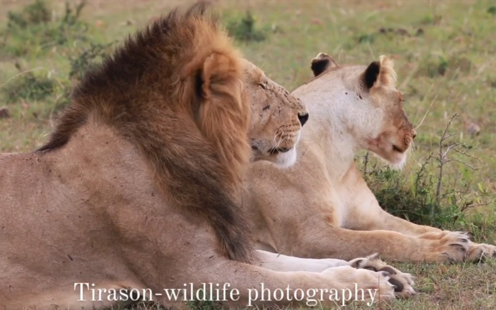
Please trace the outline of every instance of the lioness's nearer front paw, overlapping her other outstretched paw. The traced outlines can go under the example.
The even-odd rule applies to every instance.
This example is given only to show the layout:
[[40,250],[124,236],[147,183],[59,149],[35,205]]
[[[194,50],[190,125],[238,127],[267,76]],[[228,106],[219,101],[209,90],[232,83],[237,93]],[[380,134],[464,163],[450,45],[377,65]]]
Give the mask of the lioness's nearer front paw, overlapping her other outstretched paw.
[[427,261],[454,263],[467,258],[470,238],[466,233],[442,231],[422,234],[418,238],[429,242]]

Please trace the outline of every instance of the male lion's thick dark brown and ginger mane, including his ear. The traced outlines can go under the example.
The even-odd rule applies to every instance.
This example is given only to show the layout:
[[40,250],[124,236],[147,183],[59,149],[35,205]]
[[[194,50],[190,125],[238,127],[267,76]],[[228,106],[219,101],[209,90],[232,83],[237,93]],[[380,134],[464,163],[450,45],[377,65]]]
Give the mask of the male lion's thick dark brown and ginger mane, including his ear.
[[[205,11],[204,3],[185,13],[174,10],[129,37],[85,75],[38,151],[63,147],[87,122],[112,126],[140,149],[159,187],[203,215],[231,259],[248,262],[248,224],[233,190],[249,157],[248,110],[233,110],[242,106],[236,93],[241,69],[236,51]],[[231,118],[226,124],[237,126],[232,134],[216,127],[225,115]],[[232,154],[227,144],[235,145]]]

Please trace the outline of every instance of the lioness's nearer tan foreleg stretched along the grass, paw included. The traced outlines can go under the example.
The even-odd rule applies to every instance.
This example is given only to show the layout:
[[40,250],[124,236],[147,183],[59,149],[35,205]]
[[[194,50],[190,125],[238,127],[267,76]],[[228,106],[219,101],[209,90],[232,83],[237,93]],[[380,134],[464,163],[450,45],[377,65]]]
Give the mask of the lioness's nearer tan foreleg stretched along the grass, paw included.
[[[393,231],[356,231],[326,221],[329,216],[307,218],[293,228],[293,238],[278,238],[277,250],[299,257],[341,258],[351,260],[379,252],[383,258],[399,261],[462,261],[469,239],[463,233],[447,232],[442,238],[407,236]],[[275,231],[275,230],[274,230]]]

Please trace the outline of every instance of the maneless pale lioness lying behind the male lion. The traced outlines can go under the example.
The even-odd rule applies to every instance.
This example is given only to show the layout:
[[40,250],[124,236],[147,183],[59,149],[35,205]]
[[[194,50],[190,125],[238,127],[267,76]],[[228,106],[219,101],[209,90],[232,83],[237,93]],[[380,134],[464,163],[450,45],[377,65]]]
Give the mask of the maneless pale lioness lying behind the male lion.
[[393,62],[337,65],[320,53],[314,78],[292,94],[307,106],[297,163],[252,165],[248,179],[258,247],[299,257],[351,259],[379,252],[402,261],[453,262],[496,256],[466,234],[416,225],[384,211],[354,156],[370,150],[401,168],[415,129],[396,89]]

